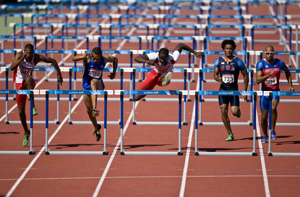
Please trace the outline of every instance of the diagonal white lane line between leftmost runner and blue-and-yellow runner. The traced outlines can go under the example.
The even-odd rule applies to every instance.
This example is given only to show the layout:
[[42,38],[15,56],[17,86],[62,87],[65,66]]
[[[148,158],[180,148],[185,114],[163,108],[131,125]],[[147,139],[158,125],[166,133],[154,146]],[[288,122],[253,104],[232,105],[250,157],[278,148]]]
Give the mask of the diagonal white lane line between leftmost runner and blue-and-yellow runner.
[[[80,101],[83,99],[83,96],[81,96],[78,101],[76,102],[76,104],[73,106],[73,108],[71,109],[71,112],[73,112],[75,110],[75,108],[79,105]],[[67,114],[65,116],[65,118],[62,120],[62,122],[59,124],[59,126],[56,128],[55,132],[51,135],[51,137],[48,140],[48,143],[50,143],[50,141],[53,139],[53,137],[55,136],[55,134],[59,131],[59,129],[62,127],[62,125],[64,124],[64,122],[66,120],[68,120],[68,116],[69,114]],[[46,145],[46,144],[45,144]],[[14,189],[17,187],[17,185],[20,183],[20,181],[24,178],[24,176],[26,175],[26,173],[29,171],[29,169],[32,167],[32,165],[34,164],[34,162],[37,160],[37,158],[40,156],[40,154],[44,151],[45,149],[45,145],[40,149],[40,151],[38,152],[38,154],[33,158],[33,160],[30,162],[30,164],[27,166],[27,168],[24,170],[24,172],[22,173],[22,175],[17,179],[17,181],[13,184],[13,186],[9,189],[9,191],[7,192],[7,194],[5,195],[5,197],[9,197],[11,195],[11,193],[14,191]]]

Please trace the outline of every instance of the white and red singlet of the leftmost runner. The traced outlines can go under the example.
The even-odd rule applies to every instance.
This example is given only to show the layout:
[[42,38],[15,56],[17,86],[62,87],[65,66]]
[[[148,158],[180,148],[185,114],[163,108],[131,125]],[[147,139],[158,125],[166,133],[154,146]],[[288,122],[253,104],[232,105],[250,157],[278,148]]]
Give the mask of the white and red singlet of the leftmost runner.
[[35,66],[34,55],[35,53],[33,53],[30,63],[24,58],[17,68],[13,70],[13,82],[21,83],[27,76],[32,76],[32,70]]

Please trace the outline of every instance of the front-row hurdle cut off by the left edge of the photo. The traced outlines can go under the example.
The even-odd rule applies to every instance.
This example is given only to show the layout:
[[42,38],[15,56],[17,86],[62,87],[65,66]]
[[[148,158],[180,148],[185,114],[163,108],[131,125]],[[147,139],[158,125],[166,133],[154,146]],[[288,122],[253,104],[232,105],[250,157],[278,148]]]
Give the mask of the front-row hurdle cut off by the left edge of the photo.
[[[0,151],[0,154],[34,154],[34,149],[32,148],[32,139],[33,139],[33,118],[32,118],[32,108],[33,108],[33,94],[38,94],[38,90],[30,90],[30,89],[1,89],[0,94],[5,94],[6,96],[6,104],[8,102],[8,94],[30,94],[30,150],[29,151]],[[6,110],[8,106],[6,105]],[[6,118],[8,118],[8,113],[6,111]],[[6,120],[4,120],[6,122]]]

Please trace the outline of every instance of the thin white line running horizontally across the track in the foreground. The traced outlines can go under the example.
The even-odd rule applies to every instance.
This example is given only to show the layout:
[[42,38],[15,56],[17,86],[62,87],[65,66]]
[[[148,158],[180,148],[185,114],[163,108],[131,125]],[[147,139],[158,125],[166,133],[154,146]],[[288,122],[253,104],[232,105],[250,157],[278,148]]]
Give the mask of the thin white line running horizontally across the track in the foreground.
[[[262,177],[263,175],[213,175],[213,176],[186,176],[186,177]],[[300,175],[268,175],[269,177],[300,177]],[[177,178],[182,176],[106,176],[105,178]],[[23,178],[23,180],[59,180],[59,179],[88,179],[101,177],[64,177],[64,178]],[[0,179],[17,180],[16,178]]]

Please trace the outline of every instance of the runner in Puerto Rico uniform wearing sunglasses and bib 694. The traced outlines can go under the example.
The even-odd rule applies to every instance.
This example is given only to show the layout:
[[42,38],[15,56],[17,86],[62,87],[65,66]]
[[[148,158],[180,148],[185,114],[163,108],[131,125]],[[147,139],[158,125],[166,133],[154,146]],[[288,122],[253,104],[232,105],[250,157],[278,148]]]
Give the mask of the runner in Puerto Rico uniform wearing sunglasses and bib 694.
[[[288,81],[289,90],[294,91],[291,83],[290,72],[285,63],[280,59],[274,58],[274,47],[267,45],[264,49],[265,59],[261,59],[256,64],[256,83],[261,83],[261,91],[280,91],[279,78],[281,69],[285,72],[285,77]],[[261,139],[262,143],[266,143],[267,136],[267,118],[269,113],[269,96],[259,97],[259,106],[261,111],[260,125],[263,132]],[[275,125],[277,120],[277,105],[279,103],[279,96],[272,96],[272,120],[271,120],[271,137],[277,139],[275,133]]]

